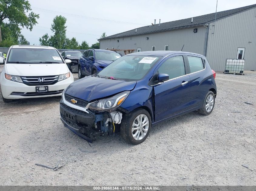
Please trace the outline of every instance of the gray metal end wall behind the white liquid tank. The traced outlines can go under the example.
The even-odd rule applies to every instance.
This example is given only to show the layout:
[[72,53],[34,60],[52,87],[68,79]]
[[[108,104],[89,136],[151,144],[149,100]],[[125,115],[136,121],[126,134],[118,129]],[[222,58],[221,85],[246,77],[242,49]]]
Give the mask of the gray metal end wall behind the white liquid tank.
[[[245,48],[244,70],[256,70],[256,8],[210,23],[207,59],[215,71],[224,71],[226,59],[236,59]],[[249,43],[251,42],[251,43]]]

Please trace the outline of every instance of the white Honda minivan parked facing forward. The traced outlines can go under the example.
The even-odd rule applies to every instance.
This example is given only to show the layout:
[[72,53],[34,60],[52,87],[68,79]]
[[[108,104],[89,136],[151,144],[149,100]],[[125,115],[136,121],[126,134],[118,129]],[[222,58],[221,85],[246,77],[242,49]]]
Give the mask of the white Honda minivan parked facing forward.
[[66,65],[70,62],[50,46],[11,46],[0,75],[3,101],[61,96],[74,81]]

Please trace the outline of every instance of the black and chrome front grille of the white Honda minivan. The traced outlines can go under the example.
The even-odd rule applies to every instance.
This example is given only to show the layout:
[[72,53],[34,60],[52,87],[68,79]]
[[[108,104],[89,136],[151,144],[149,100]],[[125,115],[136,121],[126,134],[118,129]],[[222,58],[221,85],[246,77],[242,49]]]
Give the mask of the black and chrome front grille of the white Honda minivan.
[[[24,84],[27,84],[29,86],[35,86],[35,85],[51,85],[58,82],[58,75],[55,76],[22,76],[22,81]],[[43,78],[42,82],[39,82],[38,78]]]

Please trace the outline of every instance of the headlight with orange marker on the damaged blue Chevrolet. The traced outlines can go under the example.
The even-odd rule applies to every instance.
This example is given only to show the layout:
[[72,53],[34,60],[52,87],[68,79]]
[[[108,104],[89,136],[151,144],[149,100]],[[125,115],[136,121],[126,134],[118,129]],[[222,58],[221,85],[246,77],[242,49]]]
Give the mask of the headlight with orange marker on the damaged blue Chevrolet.
[[98,100],[95,103],[92,103],[89,108],[98,111],[113,111],[115,108],[119,107],[121,103],[124,102],[129,94],[130,91],[124,91],[120,94],[116,94],[113,97]]

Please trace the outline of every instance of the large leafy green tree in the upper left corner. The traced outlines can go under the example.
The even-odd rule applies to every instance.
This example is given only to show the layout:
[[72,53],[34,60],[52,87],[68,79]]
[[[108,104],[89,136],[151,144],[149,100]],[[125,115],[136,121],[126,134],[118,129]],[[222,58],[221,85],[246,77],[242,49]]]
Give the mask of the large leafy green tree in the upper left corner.
[[30,31],[33,29],[39,15],[31,10],[31,5],[27,0],[0,0],[0,42],[12,38],[15,43],[18,43],[18,37],[21,34],[20,27],[25,27]]

